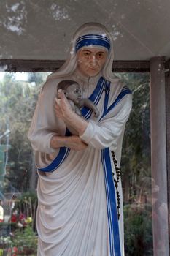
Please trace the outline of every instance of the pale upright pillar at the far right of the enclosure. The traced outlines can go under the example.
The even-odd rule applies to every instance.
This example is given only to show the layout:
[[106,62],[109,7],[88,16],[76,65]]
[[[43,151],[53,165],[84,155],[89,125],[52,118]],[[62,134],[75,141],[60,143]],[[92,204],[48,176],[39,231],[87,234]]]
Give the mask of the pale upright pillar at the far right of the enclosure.
[[169,256],[166,82],[163,57],[150,59],[152,232],[154,256]]

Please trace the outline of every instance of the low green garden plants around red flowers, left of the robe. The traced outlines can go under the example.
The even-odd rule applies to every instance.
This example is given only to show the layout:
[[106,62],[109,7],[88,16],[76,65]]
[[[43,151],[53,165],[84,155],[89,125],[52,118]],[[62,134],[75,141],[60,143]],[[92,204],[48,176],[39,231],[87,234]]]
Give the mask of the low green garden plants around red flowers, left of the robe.
[[[2,246],[3,249],[16,248],[18,255],[36,254],[37,234],[34,232],[36,230],[36,207],[36,192],[25,192],[15,200],[13,210],[18,210],[18,220],[16,223],[0,223],[0,247]],[[19,218],[21,212],[26,214],[24,224]],[[21,224],[23,224],[23,227]],[[9,230],[12,231],[11,237],[9,237]]]

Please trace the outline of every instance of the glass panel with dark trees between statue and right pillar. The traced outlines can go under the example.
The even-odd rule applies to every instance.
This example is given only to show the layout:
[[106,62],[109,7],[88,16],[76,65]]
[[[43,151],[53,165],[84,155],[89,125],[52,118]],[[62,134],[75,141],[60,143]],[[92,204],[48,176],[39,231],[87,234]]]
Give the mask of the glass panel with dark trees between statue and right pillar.
[[149,73],[118,74],[133,93],[121,160],[125,255],[153,255]]

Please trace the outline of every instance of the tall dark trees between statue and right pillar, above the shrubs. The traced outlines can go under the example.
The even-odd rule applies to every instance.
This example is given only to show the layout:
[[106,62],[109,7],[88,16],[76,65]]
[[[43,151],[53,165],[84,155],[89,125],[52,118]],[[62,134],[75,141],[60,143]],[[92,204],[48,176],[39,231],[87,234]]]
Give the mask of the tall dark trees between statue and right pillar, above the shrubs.
[[124,201],[133,202],[139,196],[139,184],[150,170],[150,84],[149,73],[119,74],[131,89],[133,106],[125,127],[121,173]]

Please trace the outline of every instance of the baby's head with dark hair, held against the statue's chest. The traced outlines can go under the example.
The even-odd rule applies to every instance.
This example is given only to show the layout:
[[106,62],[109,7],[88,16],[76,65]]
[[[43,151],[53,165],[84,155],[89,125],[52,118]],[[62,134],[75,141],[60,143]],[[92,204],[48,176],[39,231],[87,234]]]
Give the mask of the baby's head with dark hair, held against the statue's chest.
[[79,84],[73,80],[61,81],[58,83],[57,91],[59,89],[62,89],[66,98],[72,100],[75,104],[77,104],[77,100],[81,99],[82,97],[82,91]]

